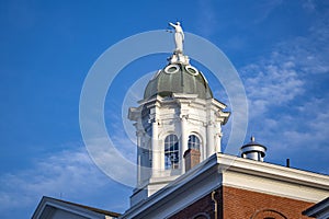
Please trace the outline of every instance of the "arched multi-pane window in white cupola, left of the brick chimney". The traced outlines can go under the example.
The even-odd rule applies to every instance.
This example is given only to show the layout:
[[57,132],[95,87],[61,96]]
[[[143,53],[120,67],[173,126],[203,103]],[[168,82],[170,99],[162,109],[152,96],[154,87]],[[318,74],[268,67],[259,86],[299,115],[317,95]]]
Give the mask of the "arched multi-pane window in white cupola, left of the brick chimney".
[[179,168],[179,139],[172,134],[164,139],[164,166],[166,170]]

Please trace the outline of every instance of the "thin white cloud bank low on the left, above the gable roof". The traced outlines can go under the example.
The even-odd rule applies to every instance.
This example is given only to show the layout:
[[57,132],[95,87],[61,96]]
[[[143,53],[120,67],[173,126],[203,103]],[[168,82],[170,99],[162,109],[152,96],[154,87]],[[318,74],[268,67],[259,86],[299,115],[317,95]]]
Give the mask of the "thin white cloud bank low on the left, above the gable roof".
[[[0,184],[2,218],[12,218],[13,215],[23,211],[32,214],[44,195],[55,198],[63,196],[64,199],[77,199],[79,203],[92,197],[102,197],[104,199],[101,203],[109,204],[104,188],[107,188],[109,194],[113,193],[113,181],[97,169],[82,146],[76,150],[45,155],[44,159],[35,161],[31,169],[4,173],[0,175]],[[94,204],[98,201],[100,200],[95,199]],[[115,207],[120,209],[118,206]],[[107,208],[111,210],[111,206]],[[124,208],[126,206],[122,206],[121,210]]]

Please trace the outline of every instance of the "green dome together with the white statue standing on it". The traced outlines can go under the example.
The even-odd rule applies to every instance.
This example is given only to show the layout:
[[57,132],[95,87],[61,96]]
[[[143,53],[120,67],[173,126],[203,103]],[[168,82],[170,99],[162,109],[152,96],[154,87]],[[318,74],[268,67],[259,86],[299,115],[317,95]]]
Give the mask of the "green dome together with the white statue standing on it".
[[205,77],[198,69],[191,66],[189,57],[183,55],[184,34],[180,23],[170,23],[170,25],[175,28],[175,49],[168,58],[169,64],[148,82],[144,99],[156,95],[166,97],[171,96],[172,93],[197,94],[198,99],[212,99],[213,92]]

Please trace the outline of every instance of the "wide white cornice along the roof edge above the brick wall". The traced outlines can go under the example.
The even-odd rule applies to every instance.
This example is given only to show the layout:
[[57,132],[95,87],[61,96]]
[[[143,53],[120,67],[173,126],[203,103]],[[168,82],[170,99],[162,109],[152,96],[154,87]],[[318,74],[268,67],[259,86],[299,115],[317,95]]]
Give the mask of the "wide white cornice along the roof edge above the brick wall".
[[220,186],[316,203],[329,194],[329,175],[216,153],[120,218],[169,218]]

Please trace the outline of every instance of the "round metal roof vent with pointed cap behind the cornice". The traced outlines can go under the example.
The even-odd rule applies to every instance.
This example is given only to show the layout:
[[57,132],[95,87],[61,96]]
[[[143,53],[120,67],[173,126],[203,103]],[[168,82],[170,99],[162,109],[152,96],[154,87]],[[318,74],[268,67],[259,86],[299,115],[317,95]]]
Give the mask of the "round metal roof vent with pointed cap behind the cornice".
[[264,161],[266,147],[254,141],[254,137],[251,136],[250,142],[242,146],[241,150],[241,158],[252,159],[256,161]]

